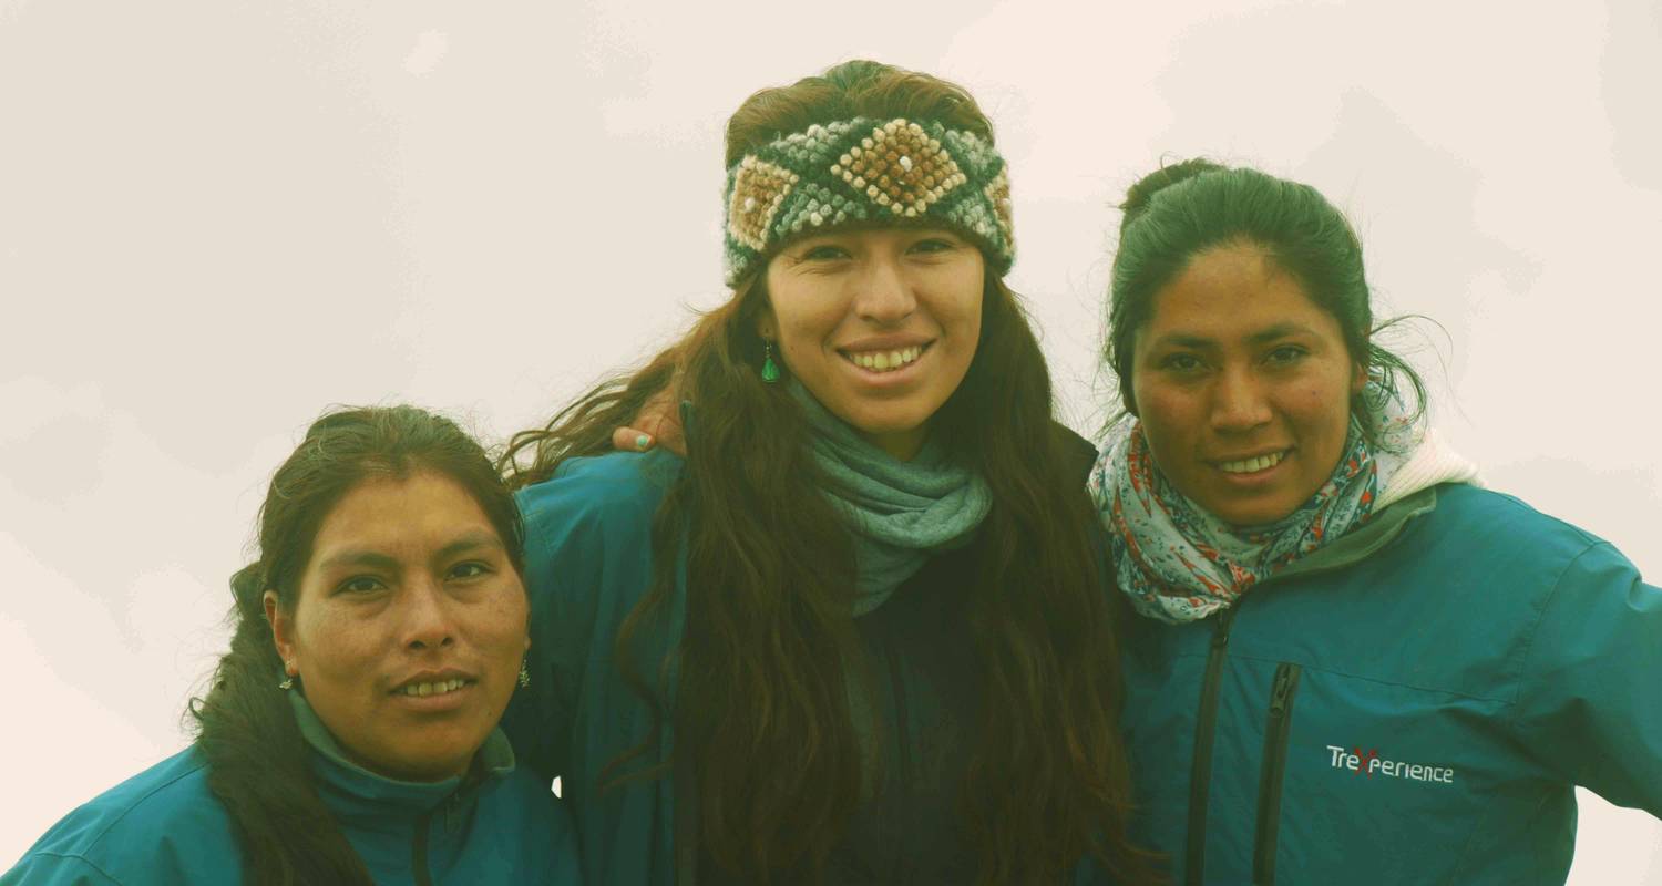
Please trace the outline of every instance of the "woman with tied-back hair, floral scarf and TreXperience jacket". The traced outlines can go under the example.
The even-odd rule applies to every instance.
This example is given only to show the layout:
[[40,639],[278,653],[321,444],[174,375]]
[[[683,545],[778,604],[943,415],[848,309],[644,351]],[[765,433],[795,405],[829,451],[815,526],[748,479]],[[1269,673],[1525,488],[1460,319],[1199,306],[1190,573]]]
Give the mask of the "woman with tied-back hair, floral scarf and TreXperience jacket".
[[1662,590],[1423,429],[1321,194],[1160,170],[1112,286],[1092,492],[1177,883],[1562,883],[1576,785],[1662,815]]

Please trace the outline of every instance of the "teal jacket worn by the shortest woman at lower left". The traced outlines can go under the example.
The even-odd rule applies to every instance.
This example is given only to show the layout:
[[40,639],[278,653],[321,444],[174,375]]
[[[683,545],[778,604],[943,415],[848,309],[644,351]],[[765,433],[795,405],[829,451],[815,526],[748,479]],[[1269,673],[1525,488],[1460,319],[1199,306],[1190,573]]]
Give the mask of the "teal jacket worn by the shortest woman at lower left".
[[[317,793],[377,884],[582,883],[565,810],[515,770],[502,731],[480,748],[484,778],[411,783],[347,761],[304,701],[296,715],[314,746]],[[231,816],[194,746],[71,811],[0,876],[0,886],[241,881]]]

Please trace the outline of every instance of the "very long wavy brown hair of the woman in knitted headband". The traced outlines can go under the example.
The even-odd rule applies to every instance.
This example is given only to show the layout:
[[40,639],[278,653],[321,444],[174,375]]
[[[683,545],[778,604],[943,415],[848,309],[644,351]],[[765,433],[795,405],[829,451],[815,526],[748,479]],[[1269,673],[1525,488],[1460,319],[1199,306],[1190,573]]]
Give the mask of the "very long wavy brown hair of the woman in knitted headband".
[[[937,120],[992,140],[962,88],[848,62],[750,96],[728,123],[728,165],[783,133],[853,116]],[[633,640],[675,593],[685,555],[680,690],[658,725],[673,720],[675,753],[698,773],[701,849],[745,881],[819,869],[869,775],[846,688],[861,678],[853,547],[821,494],[799,407],[758,374],[766,304],[758,271],[680,342],[515,436],[504,457],[510,485],[534,484],[565,459],[607,452],[613,427],[665,387],[693,404],[685,469],[653,522],[653,587],[615,655],[652,701],[642,673],[663,663],[640,662]],[[1109,595],[1082,470],[1065,467],[1079,460],[1069,457],[1077,441],[1052,421],[1044,356],[1017,296],[991,271],[974,361],[931,434],[987,479],[994,500],[961,603],[982,698],[961,813],[981,879],[1055,883],[1094,854],[1135,881],[1145,859],[1125,838]],[[613,770],[648,746],[655,740]]]

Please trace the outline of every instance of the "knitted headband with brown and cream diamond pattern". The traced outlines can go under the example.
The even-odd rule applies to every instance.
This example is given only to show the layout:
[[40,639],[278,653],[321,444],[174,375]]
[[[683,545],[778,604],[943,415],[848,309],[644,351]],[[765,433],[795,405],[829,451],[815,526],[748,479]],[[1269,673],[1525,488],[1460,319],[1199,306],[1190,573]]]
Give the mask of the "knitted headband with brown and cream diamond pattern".
[[1006,274],[1015,239],[1004,158],[966,130],[869,116],[763,145],[728,170],[726,283],[736,286],[793,239],[891,224],[959,233]]

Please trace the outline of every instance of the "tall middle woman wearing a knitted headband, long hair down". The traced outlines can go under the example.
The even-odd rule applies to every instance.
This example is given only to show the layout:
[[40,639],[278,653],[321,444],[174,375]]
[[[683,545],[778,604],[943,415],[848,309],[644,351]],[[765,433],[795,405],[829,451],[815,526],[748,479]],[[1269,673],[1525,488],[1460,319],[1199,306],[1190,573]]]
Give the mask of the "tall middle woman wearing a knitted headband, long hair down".
[[[987,118],[849,62],[745,101],[726,165],[733,298],[507,459],[507,726],[588,876],[1137,881],[1090,447],[1002,283]],[[685,460],[610,452],[671,379]]]

